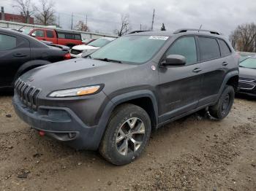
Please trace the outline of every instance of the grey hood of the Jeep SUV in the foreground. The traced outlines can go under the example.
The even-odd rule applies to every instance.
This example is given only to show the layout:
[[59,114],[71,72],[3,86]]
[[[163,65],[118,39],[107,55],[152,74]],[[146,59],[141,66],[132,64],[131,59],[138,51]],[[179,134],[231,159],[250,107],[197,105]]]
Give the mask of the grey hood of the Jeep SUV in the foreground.
[[84,87],[110,82],[118,72],[127,72],[135,65],[110,63],[86,58],[52,63],[26,72],[20,77],[29,85],[40,88],[45,93],[72,87]]

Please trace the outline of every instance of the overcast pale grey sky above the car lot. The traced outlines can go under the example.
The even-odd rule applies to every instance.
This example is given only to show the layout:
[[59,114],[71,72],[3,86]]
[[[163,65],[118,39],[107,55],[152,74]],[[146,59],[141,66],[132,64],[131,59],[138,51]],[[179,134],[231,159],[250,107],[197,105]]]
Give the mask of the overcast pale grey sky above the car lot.
[[[33,0],[31,0],[33,1]],[[34,0],[35,2],[38,0]],[[89,28],[92,31],[112,33],[120,25],[121,15],[129,14],[132,30],[151,27],[153,9],[155,12],[154,30],[162,23],[165,28],[174,31],[177,28],[211,29],[229,35],[242,23],[256,22],[255,0],[54,0],[55,10],[59,12],[60,24],[64,28],[71,26],[71,13],[74,23],[85,20],[88,15]],[[5,12],[18,12],[12,8],[12,0],[1,0]]]

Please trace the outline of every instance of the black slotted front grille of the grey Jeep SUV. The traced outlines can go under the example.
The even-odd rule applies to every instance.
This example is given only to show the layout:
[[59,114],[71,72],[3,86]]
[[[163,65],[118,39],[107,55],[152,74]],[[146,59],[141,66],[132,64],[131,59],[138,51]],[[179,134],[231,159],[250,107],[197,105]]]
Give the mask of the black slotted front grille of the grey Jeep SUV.
[[40,89],[18,79],[15,82],[15,93],[23,104],[29,106],[31,109],[37,110],[37,97]]

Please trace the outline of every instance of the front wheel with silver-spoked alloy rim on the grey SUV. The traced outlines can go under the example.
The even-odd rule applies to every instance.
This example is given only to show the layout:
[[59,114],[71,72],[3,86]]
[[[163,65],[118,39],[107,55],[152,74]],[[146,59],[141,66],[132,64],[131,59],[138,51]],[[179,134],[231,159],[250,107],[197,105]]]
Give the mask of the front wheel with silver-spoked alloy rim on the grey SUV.
[[151,120],[147,112],[139,106],[123,104],[111,114],[99,153],[114,165],[131,163],[145,149],[150,134]]

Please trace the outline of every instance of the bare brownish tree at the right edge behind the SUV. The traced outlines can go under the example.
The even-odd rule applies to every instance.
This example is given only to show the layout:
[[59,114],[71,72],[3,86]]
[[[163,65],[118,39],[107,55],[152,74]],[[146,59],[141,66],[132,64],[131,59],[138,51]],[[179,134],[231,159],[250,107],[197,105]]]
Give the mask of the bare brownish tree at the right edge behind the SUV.
[[256,52],[256,24],[246,23],[238,26],[230,34],[230,42],[236,50]]

